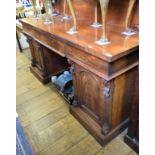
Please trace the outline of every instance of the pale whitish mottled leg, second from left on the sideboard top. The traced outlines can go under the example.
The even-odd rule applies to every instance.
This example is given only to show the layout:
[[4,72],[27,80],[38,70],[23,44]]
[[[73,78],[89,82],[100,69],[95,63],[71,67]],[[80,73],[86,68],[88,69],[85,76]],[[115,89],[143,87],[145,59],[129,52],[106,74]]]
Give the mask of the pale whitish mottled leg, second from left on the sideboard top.
[[45,12],[46,12],[44,24],[51,24],[53,22],[53,19],[51,16],[53,12],[51,1],[44,0],[44,7],[45,7]]

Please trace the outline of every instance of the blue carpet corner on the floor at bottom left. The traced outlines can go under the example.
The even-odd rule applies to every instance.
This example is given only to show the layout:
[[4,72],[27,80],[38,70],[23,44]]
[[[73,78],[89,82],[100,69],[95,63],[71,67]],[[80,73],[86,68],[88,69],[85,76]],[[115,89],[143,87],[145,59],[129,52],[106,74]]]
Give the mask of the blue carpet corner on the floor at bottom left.
[[16,118],[16,155],[34,155],[18,118]]

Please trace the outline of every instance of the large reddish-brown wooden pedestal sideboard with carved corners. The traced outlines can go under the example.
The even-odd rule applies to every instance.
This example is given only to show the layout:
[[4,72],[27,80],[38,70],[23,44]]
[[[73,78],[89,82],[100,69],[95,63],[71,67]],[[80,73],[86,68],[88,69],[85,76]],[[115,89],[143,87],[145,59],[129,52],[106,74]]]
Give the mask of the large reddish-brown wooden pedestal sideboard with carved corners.
[[[61,15],[49,25],[44,24],[44,17],[20,20],[31,49],[31,71],[42,83],[47,83],[52,75],[71,68],[74,101],[70,112],[102,145],[125,129],[133,92],[138,91],[134,86],[139,59],[138,32],[131,37],[121,34],[127,2],[110,1],[107,23],[110,44],[105,46],[95,43],[101,28],[90,26],[93,0],[74,1],[78,16],[78,33],[74,35],[67,33],[72,20],[62,21]],[[137,10],[136,5],[132,20],[135,28]]]

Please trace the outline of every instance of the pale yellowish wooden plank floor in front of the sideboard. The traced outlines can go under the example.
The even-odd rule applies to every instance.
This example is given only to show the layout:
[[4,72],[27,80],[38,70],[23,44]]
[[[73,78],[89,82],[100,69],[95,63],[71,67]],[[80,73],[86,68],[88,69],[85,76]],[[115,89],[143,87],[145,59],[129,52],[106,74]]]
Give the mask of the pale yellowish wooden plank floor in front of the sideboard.
[[35,155],[136,155],[122,135],[101,147],[55,89],[31,74],[30,57],[29,49],[17,51],[16,111]]

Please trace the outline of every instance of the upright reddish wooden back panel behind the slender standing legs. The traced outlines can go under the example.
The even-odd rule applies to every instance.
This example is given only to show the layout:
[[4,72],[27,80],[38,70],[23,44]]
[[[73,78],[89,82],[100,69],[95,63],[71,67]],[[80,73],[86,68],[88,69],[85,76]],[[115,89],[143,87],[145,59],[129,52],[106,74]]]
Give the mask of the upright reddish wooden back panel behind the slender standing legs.
[[[99,0],[97,0],[99,1]],[[91,25],[94,21],[94,6],[95,0],[74,0],[74,9],[77,18],[78,26],[81,24],[84,25]],[[135,26],[139,24],[139,0],[136,0],[135,6],[132,11],[131,17],[131,25]],[[108,7],[108,17],[107,22],[109,24],[114,24],[117,26],[124,27],[125,19],[127,14],[127,9],[129,6],[129,0],[110,0],[109,7]],[[64,3],[63,0],[56,1],[56,8],[59,10],[60,13],[63,14],[64,11]],[[81,11],[79,11],[81,10]],[[67,14],[70,14],[69,9],[66,10]],[[86,19],[86,20],[85,20]],[[79,22],[83,21],[83,22]],[[101,23],[101,8],[98,4],[98,22]]]

